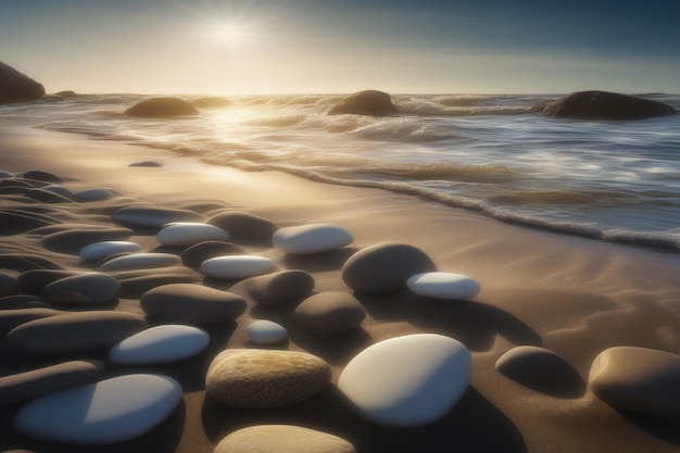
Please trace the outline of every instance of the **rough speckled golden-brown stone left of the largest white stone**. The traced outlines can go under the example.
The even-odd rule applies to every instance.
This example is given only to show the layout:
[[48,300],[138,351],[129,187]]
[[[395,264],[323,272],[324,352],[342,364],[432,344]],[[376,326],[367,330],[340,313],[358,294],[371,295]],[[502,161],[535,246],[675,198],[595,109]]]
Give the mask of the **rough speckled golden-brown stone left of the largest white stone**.
[[330,383],[330,366],[297,351],[228,349],[211,363],[207,394],[235,407],[280,407],[304,401]]

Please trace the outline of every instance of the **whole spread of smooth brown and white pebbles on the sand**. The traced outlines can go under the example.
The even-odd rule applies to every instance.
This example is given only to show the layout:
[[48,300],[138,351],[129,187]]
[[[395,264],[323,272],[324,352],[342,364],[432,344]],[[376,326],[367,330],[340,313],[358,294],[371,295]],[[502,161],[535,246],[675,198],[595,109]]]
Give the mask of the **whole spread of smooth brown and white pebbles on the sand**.
[[[0,377],[0,405],[11,408],[17,439],[26,440],[16,448],[33,440],[122,444],[152,431],[186,391],[163,366],[216,344],[207,366],[197,369],[215,404],[298,404],[327,389],[333,372],[318,355],[289,350],[289,328],[318,338],[355,331],[367,316],[357,293],[408,290],[465,300],[481,291],[470,277],[439,272],[416,247],[382,242],[342,263],[347,291],[318,292],[312,274],[281,265],[294,261],[252,250],[323,256],[353,242],[340,226],[280,227],[212,202],[164,207],[112,189],[72,191],[68,183],[45,172],[0,173],[0,360],[11,365]],[[231,291],[237,281],[241,291]],[[281,310],[291,326],[266,318]],[[215,332],[232,329],[247,312],[253,319],[248,343],[225,349],[228,339]],[[565,398],[582,381],[562,357],[537,345],[512,349],[496,370]],[[414,334],[355,354],[337,389],[369,423],[416,428],[449,413],[471,375],[471,355],[461,341]],[[678,382],[679,356],[630,347],[603,351],[589,377],[608,404],[660,416],[680,415],[678,400],[668,398],[680,394]],[[221,453],[357,450],[328,432],[277,424],[244,427],[216,443]]]

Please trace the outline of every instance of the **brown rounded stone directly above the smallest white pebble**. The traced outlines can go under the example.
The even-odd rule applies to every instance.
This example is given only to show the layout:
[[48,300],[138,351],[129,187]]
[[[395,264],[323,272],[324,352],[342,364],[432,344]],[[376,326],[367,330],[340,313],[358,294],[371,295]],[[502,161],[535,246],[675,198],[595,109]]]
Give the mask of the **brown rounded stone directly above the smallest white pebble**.
[[314,277],[300,269],[280,270],[249,278],[245,289],[260,305],[289,305],[312,294]]

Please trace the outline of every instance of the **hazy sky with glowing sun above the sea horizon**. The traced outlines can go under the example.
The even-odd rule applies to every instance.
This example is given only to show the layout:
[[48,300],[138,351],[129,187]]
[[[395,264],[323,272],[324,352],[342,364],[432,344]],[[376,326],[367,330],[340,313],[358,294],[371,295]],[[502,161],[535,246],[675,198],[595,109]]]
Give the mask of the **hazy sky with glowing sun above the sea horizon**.
[[0,0],[0,61],[80,93],[680,92],[680,0]]

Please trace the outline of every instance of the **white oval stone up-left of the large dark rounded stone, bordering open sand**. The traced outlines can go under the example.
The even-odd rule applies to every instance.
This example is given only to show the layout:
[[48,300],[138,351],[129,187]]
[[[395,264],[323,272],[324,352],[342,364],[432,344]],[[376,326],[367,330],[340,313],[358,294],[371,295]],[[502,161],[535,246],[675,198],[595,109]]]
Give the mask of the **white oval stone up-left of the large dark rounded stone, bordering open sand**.
[[347,229],[330,224],[310,224],[279,228],[273,236],[274,247],[288,254],[329,252],[354,241]]

